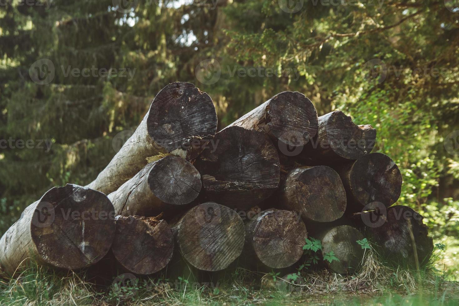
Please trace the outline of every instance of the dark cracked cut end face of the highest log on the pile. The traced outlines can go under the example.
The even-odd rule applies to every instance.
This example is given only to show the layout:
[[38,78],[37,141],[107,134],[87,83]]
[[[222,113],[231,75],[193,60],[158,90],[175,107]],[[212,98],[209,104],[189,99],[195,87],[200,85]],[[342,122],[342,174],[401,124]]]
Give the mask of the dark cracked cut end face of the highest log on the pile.
[[215,134],[217,113],[209,95],[192,83],[175,82],[151,103],[147,127],[150,137],[172,152],[196,136]]

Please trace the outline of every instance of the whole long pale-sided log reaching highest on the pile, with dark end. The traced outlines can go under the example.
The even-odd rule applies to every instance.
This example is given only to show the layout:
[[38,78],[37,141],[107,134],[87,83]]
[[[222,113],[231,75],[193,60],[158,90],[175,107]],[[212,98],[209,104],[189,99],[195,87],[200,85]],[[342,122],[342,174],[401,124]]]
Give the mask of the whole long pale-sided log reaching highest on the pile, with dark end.
[[88,187],[108,195],[152,156],[172,153],[194,159],[203,150],[199,139],[216,131],[217,114],[209,95],[191,83],[171,83],[156,95],[134,134]]

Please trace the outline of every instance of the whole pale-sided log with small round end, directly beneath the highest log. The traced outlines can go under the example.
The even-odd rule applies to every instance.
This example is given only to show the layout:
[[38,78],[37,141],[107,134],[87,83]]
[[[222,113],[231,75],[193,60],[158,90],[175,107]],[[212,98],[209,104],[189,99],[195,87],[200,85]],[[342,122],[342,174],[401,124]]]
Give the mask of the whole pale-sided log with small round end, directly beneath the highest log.
[[118,215],[154,217],[189,204],[201,188],[201,175],[189,161],[165,156],[146,165],[108,198]]

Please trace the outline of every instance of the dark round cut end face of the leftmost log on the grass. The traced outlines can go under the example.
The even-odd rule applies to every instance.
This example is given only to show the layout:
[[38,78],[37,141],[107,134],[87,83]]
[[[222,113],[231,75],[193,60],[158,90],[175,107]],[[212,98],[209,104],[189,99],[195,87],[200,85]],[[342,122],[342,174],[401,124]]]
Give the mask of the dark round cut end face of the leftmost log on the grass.
[[114,209],[106,195],[72,184],[43,195],[31,223],[39,257],[66,269],[99,261],[110,250],[114,232]]

